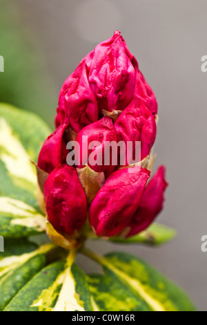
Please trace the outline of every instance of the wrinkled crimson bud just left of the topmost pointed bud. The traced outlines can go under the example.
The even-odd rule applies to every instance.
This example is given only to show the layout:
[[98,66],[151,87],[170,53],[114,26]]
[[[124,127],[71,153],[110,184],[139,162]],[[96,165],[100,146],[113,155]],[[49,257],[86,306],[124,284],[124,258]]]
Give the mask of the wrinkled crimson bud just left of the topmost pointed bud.
[[56,126],[63,122],[70,123],[72,129],[78,133],[98,118],[97,101],[88,81],[88,67],[83,61],[62,86]]

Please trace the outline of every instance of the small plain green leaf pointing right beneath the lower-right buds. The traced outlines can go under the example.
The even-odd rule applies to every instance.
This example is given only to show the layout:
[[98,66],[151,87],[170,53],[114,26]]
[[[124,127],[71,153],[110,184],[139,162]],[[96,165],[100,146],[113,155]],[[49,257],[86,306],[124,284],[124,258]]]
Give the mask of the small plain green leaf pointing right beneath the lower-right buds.
[[149,228],[139,234],[129,237],[128,239],[119,236],[111,237],[108,240],[115,243],[141,243],[147,245],[161,245],[172,240],[176,236],[176,231],[166,225],[153,223]]

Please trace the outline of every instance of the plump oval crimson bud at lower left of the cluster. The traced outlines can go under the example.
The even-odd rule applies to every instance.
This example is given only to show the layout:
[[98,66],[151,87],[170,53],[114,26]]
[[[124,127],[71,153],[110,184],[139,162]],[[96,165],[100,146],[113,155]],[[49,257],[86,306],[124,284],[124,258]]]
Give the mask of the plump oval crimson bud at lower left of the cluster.
[[63,235],[81,230],[86,221],[87,203],[77,171],[59,165],[48,176],[43,191],[48,220]]

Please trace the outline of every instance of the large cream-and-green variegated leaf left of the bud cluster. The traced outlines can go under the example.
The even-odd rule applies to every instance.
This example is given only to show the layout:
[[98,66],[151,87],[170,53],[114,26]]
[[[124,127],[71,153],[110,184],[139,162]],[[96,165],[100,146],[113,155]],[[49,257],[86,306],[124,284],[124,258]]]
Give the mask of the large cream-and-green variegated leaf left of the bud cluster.
[[0,104],[0,234],[30,236],[45,230],[37,203],[37,161],[50,133],[33,113]]

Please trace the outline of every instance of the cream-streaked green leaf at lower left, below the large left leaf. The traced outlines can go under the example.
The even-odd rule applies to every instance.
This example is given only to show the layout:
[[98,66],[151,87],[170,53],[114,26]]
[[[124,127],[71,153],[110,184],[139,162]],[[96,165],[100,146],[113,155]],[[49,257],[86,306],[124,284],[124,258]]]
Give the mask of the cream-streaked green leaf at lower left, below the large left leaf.
[[[46,254],[55,245],[46,244],[39,248],[32,243],[18,240],[6,240],[6,254],[0,259],[0,310],[6,307],[10,300],[34,275],[46,266]],[[15,245],[16,247],[10,247]],[[8,256],[10,252],[10,256]]]

